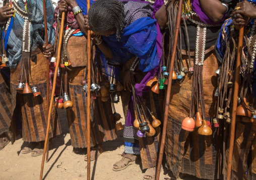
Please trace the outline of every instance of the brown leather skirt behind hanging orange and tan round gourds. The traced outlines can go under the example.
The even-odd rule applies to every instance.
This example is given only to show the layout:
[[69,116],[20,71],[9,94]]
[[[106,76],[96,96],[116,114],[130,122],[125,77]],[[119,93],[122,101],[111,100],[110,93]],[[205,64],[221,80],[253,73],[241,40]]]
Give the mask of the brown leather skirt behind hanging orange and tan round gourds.
[[[180,84],[176,83],[171,87],[165,154],[169,169],[175,176],[182,172],[199,178],[217,179],[222,174],[223,142],[218,141],[221,137],[218,132],[220,128],[215,128],[212,122],[217,103],[214,93],[218,80],[214,71],[218,69],[218,60],[214,50],[206,53],[205,57],[203,84],[206,120],[211,122],[213,134],[207,137],[199,135],[197,130],[188,132],[181,129],[183,119],[189,114],[193,84],[193,77],[187,73]],[[182,55],[182,59],[183,64],[188,65],[188,57]],[[193,67],[193,62],[191,63]]]

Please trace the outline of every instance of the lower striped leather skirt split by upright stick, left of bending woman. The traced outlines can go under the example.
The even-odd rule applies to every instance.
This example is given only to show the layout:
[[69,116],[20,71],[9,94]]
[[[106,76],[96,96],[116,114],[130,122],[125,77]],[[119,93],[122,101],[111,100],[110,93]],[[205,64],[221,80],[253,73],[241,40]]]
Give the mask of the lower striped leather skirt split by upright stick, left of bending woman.
[[[82,89],[81,80],[85,77],[85,67],[74,68],[68,72],[69,94],[73,109],[68,110],[68,121],[73,147],[87,147],[87,97]],[[110,100],[91,98],[91,146],[114,140],[115,122]]]

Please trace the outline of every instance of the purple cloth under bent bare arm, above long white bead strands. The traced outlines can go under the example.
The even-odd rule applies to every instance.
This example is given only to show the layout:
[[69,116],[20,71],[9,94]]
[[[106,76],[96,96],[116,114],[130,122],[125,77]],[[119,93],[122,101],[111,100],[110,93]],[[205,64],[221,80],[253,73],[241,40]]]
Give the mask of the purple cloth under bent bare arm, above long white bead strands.
[[191,0],[191,4],[192,4],[192,9],[194,12],[197,13],[197,15],[199,16],[200,20],[204,23],[207,23],[209,25],[218,25],[220,24],[222,21],[224,21],[226,14],[223,16],[223,18],[217,22],[214,23],[203,11],[202,11],[202,7],[200,5],[199,0]]

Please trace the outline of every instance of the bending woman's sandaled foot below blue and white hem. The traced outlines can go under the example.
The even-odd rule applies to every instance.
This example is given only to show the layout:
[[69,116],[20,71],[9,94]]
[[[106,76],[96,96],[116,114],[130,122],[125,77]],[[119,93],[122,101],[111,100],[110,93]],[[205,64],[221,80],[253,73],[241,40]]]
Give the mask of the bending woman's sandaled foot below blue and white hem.
[[[135,154],[122,154],[122,159],[114,163],[113,165],[113,170],[118,171],[118,170],[123,170],[126,167],[128,167],[131,164],[135,164],[136,160],[138,159],[138,155]],[[114,167],[118,168],[114,168]]]

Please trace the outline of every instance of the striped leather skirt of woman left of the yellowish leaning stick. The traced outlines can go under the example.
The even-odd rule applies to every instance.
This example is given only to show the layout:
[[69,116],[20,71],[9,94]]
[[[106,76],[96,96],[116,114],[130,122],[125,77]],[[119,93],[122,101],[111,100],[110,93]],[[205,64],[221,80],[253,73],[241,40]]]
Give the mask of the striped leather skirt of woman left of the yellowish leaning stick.
[[[21,107],[22,112],[22,138],[28,142],[38,142],[45,140],[48,111],[46,108],[46,59],[42,53],[31,57],[31,77],[29,84],[36,86],[41,92],[39,96],[24,96],[16,91],[20,80],[21,63],[11,69],[11,93],[12,112],[16,104]],[[33,83],[32,84],[32,80]],[[51,96],[51,91],[50,91]],[[17,106],[17,107],[18,107]],[[49,138],[61,134],[59,120],[54,104],[51,109]]]

